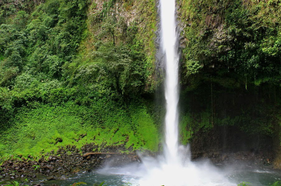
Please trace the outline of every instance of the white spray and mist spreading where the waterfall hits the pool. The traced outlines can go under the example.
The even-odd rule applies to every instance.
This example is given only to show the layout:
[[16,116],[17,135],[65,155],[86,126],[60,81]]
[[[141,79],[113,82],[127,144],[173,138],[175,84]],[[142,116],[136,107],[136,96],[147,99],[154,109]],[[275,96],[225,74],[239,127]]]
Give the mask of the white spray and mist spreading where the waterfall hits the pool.
[[158,157],[142,156],[141,164],[122,168],[108,167],[100,170],[104,175],[123,175],[123,181],[140,186],[237,186],[228,179],[230,169],[220,169],[208,160],[190,161],[188,147],[179,147],[179,157],[174,163],[164,155]]

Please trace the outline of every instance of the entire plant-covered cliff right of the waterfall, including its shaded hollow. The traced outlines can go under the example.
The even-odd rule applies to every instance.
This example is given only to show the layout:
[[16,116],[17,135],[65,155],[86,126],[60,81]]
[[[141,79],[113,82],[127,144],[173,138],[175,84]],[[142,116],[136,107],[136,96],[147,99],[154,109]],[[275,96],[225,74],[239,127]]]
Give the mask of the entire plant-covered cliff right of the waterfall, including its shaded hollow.
[[[185,39],[181,136],[237,126],[279,136],[280,1],[179,0]],[[275,134],[278,133],[278,134]]]

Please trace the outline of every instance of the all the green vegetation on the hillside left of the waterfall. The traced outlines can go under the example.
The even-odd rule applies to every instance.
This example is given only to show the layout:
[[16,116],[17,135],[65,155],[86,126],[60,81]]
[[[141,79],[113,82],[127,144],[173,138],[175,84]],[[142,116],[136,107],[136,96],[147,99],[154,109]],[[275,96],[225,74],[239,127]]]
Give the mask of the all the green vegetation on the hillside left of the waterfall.
[[[128,3],[120,8],[129,13]],[[154,48],[154,6],[127,25],[114,4],[104,1],[101,11],[87,0],[1,5],[2,156],[91,142],[158,150],[151,103],[141,96],[154,86],[154,54],[146,52]]]

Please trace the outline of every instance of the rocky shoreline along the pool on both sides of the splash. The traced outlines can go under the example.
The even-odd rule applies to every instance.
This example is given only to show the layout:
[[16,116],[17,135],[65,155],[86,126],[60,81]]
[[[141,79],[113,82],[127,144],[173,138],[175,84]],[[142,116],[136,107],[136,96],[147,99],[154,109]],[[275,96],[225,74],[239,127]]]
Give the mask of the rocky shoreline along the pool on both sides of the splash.
[[[54,150],[47,152],[38,160],[34,160],[30,155],[27,158],[21,155],[18,157],[11,156],[3,161],[0,166],[0,181],[1,179],[16,180],[26,178],[33,181],[38,175],[44,175],[47,180],[60,179],[62,176],[77,172],[94,171],[102,168],[105,164],[114,167],[141,162],[140,157],[133,152],[130,154],[117,153],[127,150],[124,145],[106,147],[101,150],[101,154],[85,156],[88,152],[92,152],[93,149],[98,149],[98,146],[85,144],[79,150],[75,146],[67,145],[59,148],[56,152]],[[108,152],[113,152],[113,154]],[[193,160],[208,158],[213,163],[220,164],[246,164],[266,169],[276,168],[276,166],[274,167],[274,155],[271,152],[259,154],[243,151],[236,153],[191,152],[191,157]]]

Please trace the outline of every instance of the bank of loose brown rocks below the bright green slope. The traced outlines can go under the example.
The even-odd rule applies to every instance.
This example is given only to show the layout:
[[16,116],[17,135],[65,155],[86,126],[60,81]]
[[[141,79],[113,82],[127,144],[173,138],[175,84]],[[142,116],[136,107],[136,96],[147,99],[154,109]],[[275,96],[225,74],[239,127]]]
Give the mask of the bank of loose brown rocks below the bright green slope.
[[[101,152],[116,152],[116,147],[100,147]],[[35,178],[36,174],[48,176],[48,179],[59,179],[61,175],[68,175],[79,171],[91,171],[102,168],[105,164],[110,166],[120,166],[131,162],[138,163],[138,157],[135,154],[98,154],[82,156],[86,152],[93,152],[98,146],[86,144],[79,150],[75,146],[67,145],[61,147],[56,152],[51,151],[43,155],[39,160],[31,160],[21,157],[11,158],[4,161],[0,172],[2,177],[16,178]],[[119,150],[125,150],[124,146],[118,147]],[[82,152],[82,153],[81,153]],[[138,160],[138,161],[136,161]]]

